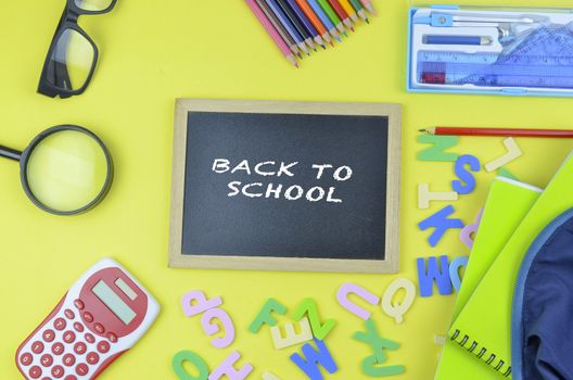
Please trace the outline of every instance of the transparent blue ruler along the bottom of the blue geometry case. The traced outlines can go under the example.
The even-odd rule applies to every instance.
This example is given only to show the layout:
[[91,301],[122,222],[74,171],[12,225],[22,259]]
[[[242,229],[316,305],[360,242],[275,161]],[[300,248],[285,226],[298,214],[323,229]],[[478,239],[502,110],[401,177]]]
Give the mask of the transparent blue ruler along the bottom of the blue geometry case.
[[573,88],[573,56],[420,51],[418,81],[483,87]]

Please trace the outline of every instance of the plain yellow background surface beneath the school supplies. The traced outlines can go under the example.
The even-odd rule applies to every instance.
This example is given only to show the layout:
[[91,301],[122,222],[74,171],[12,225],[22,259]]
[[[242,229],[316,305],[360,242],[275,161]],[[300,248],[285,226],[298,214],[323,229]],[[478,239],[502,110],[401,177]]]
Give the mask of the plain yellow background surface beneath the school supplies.
[[[473,1],[491,3],[497,1]],[[506,1],[546,5],[547,2]],[[568,1],[551,1],[566,5]],[[570,4],[570,3],[569,3]],[[80,25],[98,43],[96,76],[82,96],[53,100],[36,93],[40,69],[64,1],[2,1],[0,5],[0,143],[24,149],[41,130],[58,124],[86,126],[107,144],[115,182],[107,199],[76,217],[37,210],[22,191],[18,167],[0,161],[0,378],[17,379],[14,352],[48,315],[68,287],[92,264],[111,255],[157,297],[160,317],[143,339],[101,379],[176,379],[171,358],[180,350],[199,353],[213,369],[238,350],[255,366],[250,377],[270,370],[282,379],[304,379],[289,360],[300,347],[276,351],[268,329],[247,332],[264,302],[273,296],[294,311],[300,301],[318,301],[323,318],[338,320],[327,338],[340,370],[327,378],[362,379],[370,349],[352,339],[359,318],[338,305],[336,289],[356,282],[383,294],[390,282],[416,283],[416,257],[468,254],[457,233],[431,249],[416,225],[445,204],[417,210],[417,185],[447,190],[449,163],[416,161],[417,129],[434,125],[573,127],[571,99],[410,94],[405,91],[407,1],[377,0],[379,16],[352,38],[302,62],[283,60],[243,1],[119,0],[113,13],[84,16]],[[387,275],[280,274],[169,269],[167,240],[173,113],[176,98],[278,99],[396,102],[404,105],[400,273]],[[572,144],[569,140],[523,140],[523,156],[509,165],[520,179],[545,186]],[[461,139],[454,149],[488,162],[505,150],[501,139]],[[482,172],[474,193],[454,203],[464,223],[483,204],[493,174]],[[237,340],[217,350],[200,318],[184,318],[180,296],[201,289],[220,295]],[[440,349],[434,334],[446,331],[455,295],[417,297],[403,325],[369,307],[381,334],[402,344],[389,365],[403,364],[399,379],[432,379]],[[283,318],[281,320],[286,320]],[[461,378],[461,377],[460,377]]]

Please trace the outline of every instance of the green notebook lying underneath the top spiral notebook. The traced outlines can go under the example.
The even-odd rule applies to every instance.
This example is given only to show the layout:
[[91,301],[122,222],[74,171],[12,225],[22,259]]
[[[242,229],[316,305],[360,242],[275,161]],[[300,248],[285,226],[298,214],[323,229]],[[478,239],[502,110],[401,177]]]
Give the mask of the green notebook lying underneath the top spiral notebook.
[[[470,254],[468,268],[454,306],[453,320],[462,311],[475,287],[535,203],[542,189],[498,177],[492,181],[485,210]],[[499,379],[497,372],[468,355],[455,341],[446,340],[435,380]]]

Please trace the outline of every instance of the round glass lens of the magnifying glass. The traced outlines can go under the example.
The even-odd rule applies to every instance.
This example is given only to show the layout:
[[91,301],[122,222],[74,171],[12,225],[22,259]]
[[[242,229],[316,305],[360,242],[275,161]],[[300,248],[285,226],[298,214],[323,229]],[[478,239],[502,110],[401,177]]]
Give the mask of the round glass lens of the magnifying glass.
[[91,136],[61,130],[29,153],[26,175],[33,195],[46,207],[74,212],[93,202],[106,186],[107,160]]

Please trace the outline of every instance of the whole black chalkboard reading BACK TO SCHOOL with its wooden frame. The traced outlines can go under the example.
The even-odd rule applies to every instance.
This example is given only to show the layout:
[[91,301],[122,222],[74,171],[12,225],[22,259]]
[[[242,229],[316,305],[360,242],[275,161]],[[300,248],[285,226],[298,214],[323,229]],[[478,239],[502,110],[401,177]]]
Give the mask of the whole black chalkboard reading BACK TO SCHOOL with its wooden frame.
[[[180,181],[182,195],[173,200],[181,213],[171,220],[171,238],[180,224],[171,242],[178,257],[208,267],[346,270],[377,263],[395,269],[389,263],[395,266],[397,239],[387,227],[397,226],[397,212],[389,210],[389,202],[397,208],[397,197],[389,193],[397,195],[399,181],[389,174],[399,176],[399,161],[389,166],[395,160],[389,147],[399,149],[399,129],[396,137],[391,128],[399,109],[314,103],[309,113],[308,103],[207,101],[217,109],[202,110],[205,101],[187,102],[178,117],[184,134],[176,131],[184,159],[174,156],[184,164],[182,173],[174,170],[174,193]],[[181,175],[182,181],[175,178]]]

